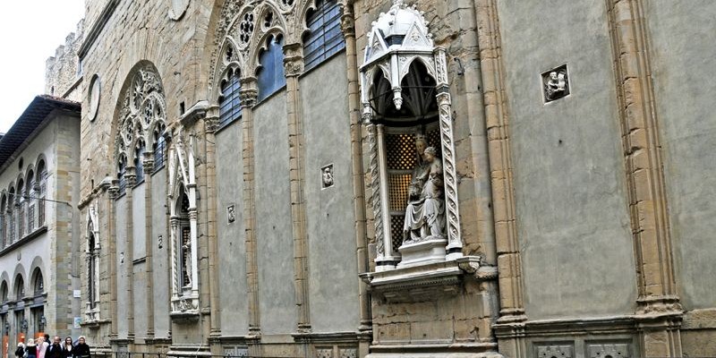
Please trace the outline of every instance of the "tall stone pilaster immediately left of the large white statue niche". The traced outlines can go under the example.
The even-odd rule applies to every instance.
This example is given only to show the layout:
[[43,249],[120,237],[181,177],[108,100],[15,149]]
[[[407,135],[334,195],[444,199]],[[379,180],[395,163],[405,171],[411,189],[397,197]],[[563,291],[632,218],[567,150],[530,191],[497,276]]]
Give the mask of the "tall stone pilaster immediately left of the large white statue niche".
[[[341,30],[345,38],[346,74],[348,77],[348,114],[351,126],[351,173],[353,175],[354,212],[355,212],[355,254],[358,272],[368,272],[368,235],[365,218],[365,186],[362,166],[362,125],[361,125],[361,92],[358,72],[358,53],[355,44],[355,14],[353,1],[342,4]],[[371,298],[368,286],[362,280],[358,282],[358,302],[361,310],[359,331],[371,337]],[[370,342],[369,342],[370,343]],[[368,346],[359,347],[360,355],[368,354]]]

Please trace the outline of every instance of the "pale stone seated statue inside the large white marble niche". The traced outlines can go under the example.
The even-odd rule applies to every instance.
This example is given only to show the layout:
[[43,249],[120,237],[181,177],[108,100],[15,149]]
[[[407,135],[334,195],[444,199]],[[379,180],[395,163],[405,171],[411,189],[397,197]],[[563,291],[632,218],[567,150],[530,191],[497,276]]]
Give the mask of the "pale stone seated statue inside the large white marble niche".
[[420,243],[445,237],[445,200],[443,198],[442,163],[434,147],[418,138],[415,149],[418,162],[408,187],[403,243]]

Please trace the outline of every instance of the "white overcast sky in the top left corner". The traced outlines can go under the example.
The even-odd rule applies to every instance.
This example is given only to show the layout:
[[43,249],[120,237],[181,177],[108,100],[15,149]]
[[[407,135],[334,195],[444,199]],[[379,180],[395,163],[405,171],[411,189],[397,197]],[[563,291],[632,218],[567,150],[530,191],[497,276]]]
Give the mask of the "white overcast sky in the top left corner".
[[45,61],[84,17],[84,0],[11,0],[0,10],[0,132],[45,90]]

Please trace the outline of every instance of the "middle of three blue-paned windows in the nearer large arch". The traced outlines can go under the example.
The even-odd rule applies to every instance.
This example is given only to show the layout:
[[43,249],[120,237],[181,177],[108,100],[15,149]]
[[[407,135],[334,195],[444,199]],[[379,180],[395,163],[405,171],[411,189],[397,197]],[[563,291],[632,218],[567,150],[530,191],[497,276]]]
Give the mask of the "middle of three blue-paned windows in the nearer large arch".
[[268,38],[266,50],[259,55],[259,63],[256,80],[259,86],[258,99],[261,101],[286,86],[284,38],[281,35]]

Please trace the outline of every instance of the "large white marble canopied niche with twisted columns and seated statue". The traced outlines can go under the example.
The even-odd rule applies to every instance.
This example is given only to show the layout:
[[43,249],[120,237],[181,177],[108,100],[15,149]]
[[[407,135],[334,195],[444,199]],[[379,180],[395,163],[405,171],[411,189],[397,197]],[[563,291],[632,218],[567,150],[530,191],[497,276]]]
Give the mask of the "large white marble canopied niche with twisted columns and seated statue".
[[445,49],[396,0],[373,22],[360,71],[376,270],[462,257]]

